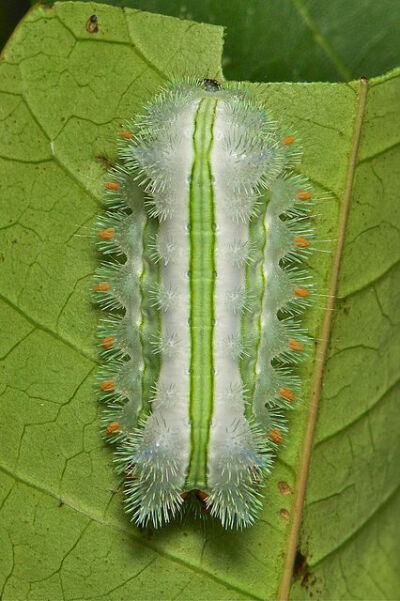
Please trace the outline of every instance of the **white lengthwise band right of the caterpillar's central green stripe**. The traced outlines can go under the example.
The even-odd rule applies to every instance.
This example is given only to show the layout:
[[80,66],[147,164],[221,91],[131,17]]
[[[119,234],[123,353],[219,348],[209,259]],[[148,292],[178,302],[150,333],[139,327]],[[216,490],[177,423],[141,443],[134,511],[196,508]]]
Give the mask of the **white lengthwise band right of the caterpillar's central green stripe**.
[[[247,219],[232,211],[232,196],[241,175],[242,157],[232,152],[230,140],[240,137],[240,123],[232,120],[229,105],[218,104],[214,123],[211,169],[216,213],[216,280],[214,368],[215,405],[210,431],[209,504],[219,508],[223,523],[234,514],[248,513],[238,482],[249,481],[249,466],[257,461],[257,443],[245,417],[246,391],[240,374],[242,314],[246,306],[245,274],[249,253]],[[240,192],[239,192],[240,194]],[[242,256],[237,256],[238,249]],[[236,254],[235,254],[236,249]],[[246,449],[246,453],[243,453]],[[230,510],[221,513],[221,505]],[[211,510],[213,511],[213,510]]]

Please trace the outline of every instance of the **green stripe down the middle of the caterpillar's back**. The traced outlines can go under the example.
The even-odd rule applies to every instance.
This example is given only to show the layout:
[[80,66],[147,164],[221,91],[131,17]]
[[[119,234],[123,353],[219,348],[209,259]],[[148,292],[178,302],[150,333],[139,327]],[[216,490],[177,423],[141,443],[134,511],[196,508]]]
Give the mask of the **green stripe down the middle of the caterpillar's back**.
[[217,100],[200,101],[193,133],[190,215],[190,407],[188,489],[207,485],[207,455],[214,405],[215,209],[211,149]]

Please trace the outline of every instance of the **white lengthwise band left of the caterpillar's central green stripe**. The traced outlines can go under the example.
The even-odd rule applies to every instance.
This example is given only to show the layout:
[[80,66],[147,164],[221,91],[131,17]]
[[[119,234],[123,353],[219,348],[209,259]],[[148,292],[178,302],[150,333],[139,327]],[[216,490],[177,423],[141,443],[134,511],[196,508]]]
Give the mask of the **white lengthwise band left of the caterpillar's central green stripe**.
[[[169,466],[168,478],[163,487],[151,488],[154,507],[162,505],[176,491],[184,488],[190,449],[190,423],[188,404],[190,396],[190,293],[189,293],[189,238],[188,238],[188,181],[192,168],[193,122],[198,102],[192,102],[177,115],[175,135],[168,140],[168,148],[155,149],[154,160],[163,164],[170,173],[171,195],[168,203],[169,216],[160,221],[158,229],[159,248],[172,246],[167,258],[160,258],[159,306],[161,312],[160,339],[156,341],[162,362],[156,394],[152,400],[152,414],[143,430],[143,440],[138,449],[152,455],[160,453],[159,473],[163,479],[165,466]],[[153,478],[153,476],[152,476]],[[143,475],[146,481],[146,474]],[[149,501],[150,502],[150,501]],[[173,501],[171,500],[173,506]],[[143,512],[148,511],[143,503]],[[143,516],[145,517],[145,516]]]

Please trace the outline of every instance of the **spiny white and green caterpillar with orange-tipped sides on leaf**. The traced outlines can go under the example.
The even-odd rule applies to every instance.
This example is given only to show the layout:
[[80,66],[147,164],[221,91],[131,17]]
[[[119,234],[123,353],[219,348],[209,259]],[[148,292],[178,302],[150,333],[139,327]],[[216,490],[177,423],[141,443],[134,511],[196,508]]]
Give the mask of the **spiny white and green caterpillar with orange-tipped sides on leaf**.
[[162,90],[124,124],[96,223],[101,430],[138,526],[253,524],[299,400],[313,282],[292,132],[240,85]]

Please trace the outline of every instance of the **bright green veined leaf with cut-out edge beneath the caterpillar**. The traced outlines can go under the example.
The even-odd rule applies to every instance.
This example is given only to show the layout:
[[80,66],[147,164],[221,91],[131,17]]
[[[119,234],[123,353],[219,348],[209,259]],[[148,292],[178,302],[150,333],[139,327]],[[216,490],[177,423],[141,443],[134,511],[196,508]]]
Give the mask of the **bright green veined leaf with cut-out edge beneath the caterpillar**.
[[[86,30],[93,13],[97,33]],[[321,297],[309,315],[317,361],[310,357],[303,369],[310,402],[293,412],[261,521],[242,533],[192,521],[152,533],[138,531],[122,510],[93,393],[90,231],[121,121],[170,77],[221,78],[221,49],[217,27],[71,2],[34,8],[3,55],[5,600],[285,598],[312,398],[320,400],[320,416],[299,543],[304,561],[291,596],[396,598],[399,72],[371,81],[368,91],[365,83],[249,84],[277,118],[294,124],[305,149],[302,170],[329,196],[316,210],[327,241],[321,251],[329,252],[317,253],[312,265]],[[336,310],[325,311],[337,275]]]

